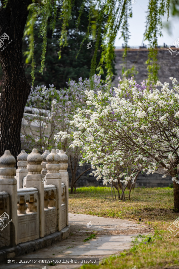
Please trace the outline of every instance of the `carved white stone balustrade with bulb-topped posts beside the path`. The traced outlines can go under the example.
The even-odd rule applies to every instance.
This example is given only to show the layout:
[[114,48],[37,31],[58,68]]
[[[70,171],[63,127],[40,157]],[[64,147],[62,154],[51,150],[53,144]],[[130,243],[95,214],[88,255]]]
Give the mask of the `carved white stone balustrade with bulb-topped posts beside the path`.
[[[4,248],[40,238],[46,240],[47,236],[61,235],[63,231],[69,233],[68,156],[63,150],[57,152],[46,150],[40,155],[33,149],[27,155],[22,150],[17,157],[17,170],[9,150],[1,156],[0,261]],[[10,254],[11,258],[16,252]]]

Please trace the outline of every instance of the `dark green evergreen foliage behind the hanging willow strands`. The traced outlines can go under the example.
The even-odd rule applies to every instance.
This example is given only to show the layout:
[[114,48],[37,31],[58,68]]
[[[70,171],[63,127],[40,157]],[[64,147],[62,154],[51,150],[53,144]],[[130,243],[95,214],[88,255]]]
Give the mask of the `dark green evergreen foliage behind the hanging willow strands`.
[[[36,85],[49,85],[53,84],[57,88],[64,88],[67,86],[66,82],[69,79],[78,81],[79,77],[82,79],[90,77],[90,65],[91,59],[95,50],[95,43],[92,41],[92,37],[86,39],[84,44],[81,47],[80,53],[78,51],[80,49],[80,45],[85,38],[86,29],[88,27],[88,16],[90,12],[89,6],[84,7],[84,11],[81,14],[80,24],[78,29],[76,28],[76,18],[78,17],[80,7],[82,4],[82,0],[76,2],[76,4],[72,7],[71,18],[67,26],[67,42],[68,45],[61,48],[61,58],[58,59],[58,51],[59,51],[59,39],[62,31],[62,21],[60,20],[61,14],[61,5],[57,7],[57,16],[56,16],[56,25],[54,32],[51,29],[51,19],[48,19],[47,25],[47,51],[46,51],[46,59],[45,59],[45,68],[43,74],[39,73],[39,68],[41,65],[41,59],[39,54],[42,53],[42,39],[39,35],[40,32],[40,21],[41,15],[37,17],[36,23],[34,25],[34,61],[35,61],[35,86]],[[91,27],[96,22],[98,17],[98,10],[92,10],[92,22]],[[99,62],[101,57],[101,41],[102,41],[102,33],[104,33],[104,25],[107,21],[107,16],[103,17],[102,21],[102,30],[96,55],[96,60]],[[27,32],[28,33],[28,32]],[[90,39],[91,38],[91,39]],[[87,49],[87,43],[91,41],[92,47]],[[28,54],[28,46],[29,39],[26,34],[23,42],[23,53],[24,53],[24,62]],[[78,57],[76,57],[78,54]],[[25,74],[29,82],[31,82],[31,62],[30,58],[26,60],[24,65]],[[114,62],[112,62],[112,70],[114,71]],[[95,71],[97,73],[97,71]],[[102,74],[102,79],[105,79],[106,71]]]

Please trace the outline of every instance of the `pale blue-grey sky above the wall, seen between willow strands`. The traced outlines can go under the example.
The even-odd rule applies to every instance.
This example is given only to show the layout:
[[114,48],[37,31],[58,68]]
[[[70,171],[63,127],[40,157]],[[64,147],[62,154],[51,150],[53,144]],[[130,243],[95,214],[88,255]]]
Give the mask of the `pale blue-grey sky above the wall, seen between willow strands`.
[[[141,46],[143,43],[148,45],[147,41],[143,42],[143,34],[145,32],[145,22],[146,22],[146,12],[149,0],[131,0],[136,2],[132,4],[132,18],[129,19],[129,31],[130,39],[128,42],[129,46]],[[166,24],[166,16],[163,19],[163,23]],[[179,37],[178,25],[179,17],[169,18],[170,30],[167,27],[163,27],[162,33],[163,36],[158,37],[158,45],[163,46],[163,43],[167,46],[171,45],[175,39]],[[121,33],[119,31],[118,36],[115,40],[115,46],[121,46],[124,43],[123,39],[119,39]]]

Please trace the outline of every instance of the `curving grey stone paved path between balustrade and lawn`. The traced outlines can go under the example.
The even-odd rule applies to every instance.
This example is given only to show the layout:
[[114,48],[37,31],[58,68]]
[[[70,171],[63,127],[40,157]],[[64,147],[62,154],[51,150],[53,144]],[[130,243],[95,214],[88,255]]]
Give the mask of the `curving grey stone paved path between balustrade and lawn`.
[[[17,258],[20,259],[55,259],[66,257],[67,259],[82,258],[100,260],[112,254],[118,254],[124,249],[131,247],[131,242],[138,234],[151,234],[153,229],[144,224],[136,224],[133,221],[127,221],[114,218],[103,218],[93,215],[70,214],[70,236],[68,239],[58,244],[29,253]],[[87,227],[87,224],[89,227]],[[90,234],[96,234],[96,239],[83,242]],[[2,265],[1,269],[42,269],[45,265]],[[55,265],[46,266],[46,269],[70,269],[79,268],[79,265]]]

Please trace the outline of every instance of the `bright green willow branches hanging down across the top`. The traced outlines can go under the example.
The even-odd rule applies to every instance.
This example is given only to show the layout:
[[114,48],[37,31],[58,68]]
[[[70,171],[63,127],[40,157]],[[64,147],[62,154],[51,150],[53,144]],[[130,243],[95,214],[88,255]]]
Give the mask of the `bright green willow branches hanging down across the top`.
[[[71,19],[72,6],[75,5],[75,1],[78,0],[32,0],[32,4],[29,5],[30,16],[28,17],[26,30],[24,34],[29,36],[29,51],[25,52],[27,55],[26,62],[32,60],[32,84],[34,83],[34,33],[33,28],[39,16],[41,16],[41,36],[43,39],[42,44],[42,55],[41,55],[41,67],[40,72],[43,74],[45,67],[45,54],[47,48],[47,25],[50,23],[52,32],[55,30],[57,7],[61,8],[60,20],[62,21],[61,37],[59,39],[59,59],[61,58],[61,48],[68,45],[67,40],[67,29],[69,20]],[[6,7],[8,0],[4,0],[3,7]],[[46,2],[46,3],[45,3]],[[175,6],[173,0],[149,0],[147,17],[146,17],[146,31],[145,40],[149,41],[149,54],[148,60],[148,76],[149,80],[155,82],[158,74],[158,63],[157,63],[157,45],[158,36],[161,36],[162,30],[162,17],[166,13],[167,20],[169,19],[170,4],[172,7]],[[95,43],[94,54],[91,62],[90,77],[97,70],[99,74],[104,74],[104,68],[107,70],[107,78],[112,79],[112,61],[115,57],[114,53],[114,42],[118,31],[122,25],[122,35],[127,44],[129,38],[128,20],[127,17],[132,16],[131,1],[130,0],[83,0],[81,8],[79,10],[79,16],[76,20],[76,27],[80,24],[81,14],[83,13],[84,7],[89,7],[89,24],[86,29],[86,35],[81,43],[78,54],[80,53],[81,47],[86,39],[92,39]],[[97,18],[94,19],[94,15],[98,13]],[[103,25],[103,17],[107,18],[107,22]],[[78,30],[78,29],[77,29]],[[96,55],[98,51],[99,41],[102,35],[102,53],[101,59],[96,68]],[[77,55],[78,56],[78,55]]]

